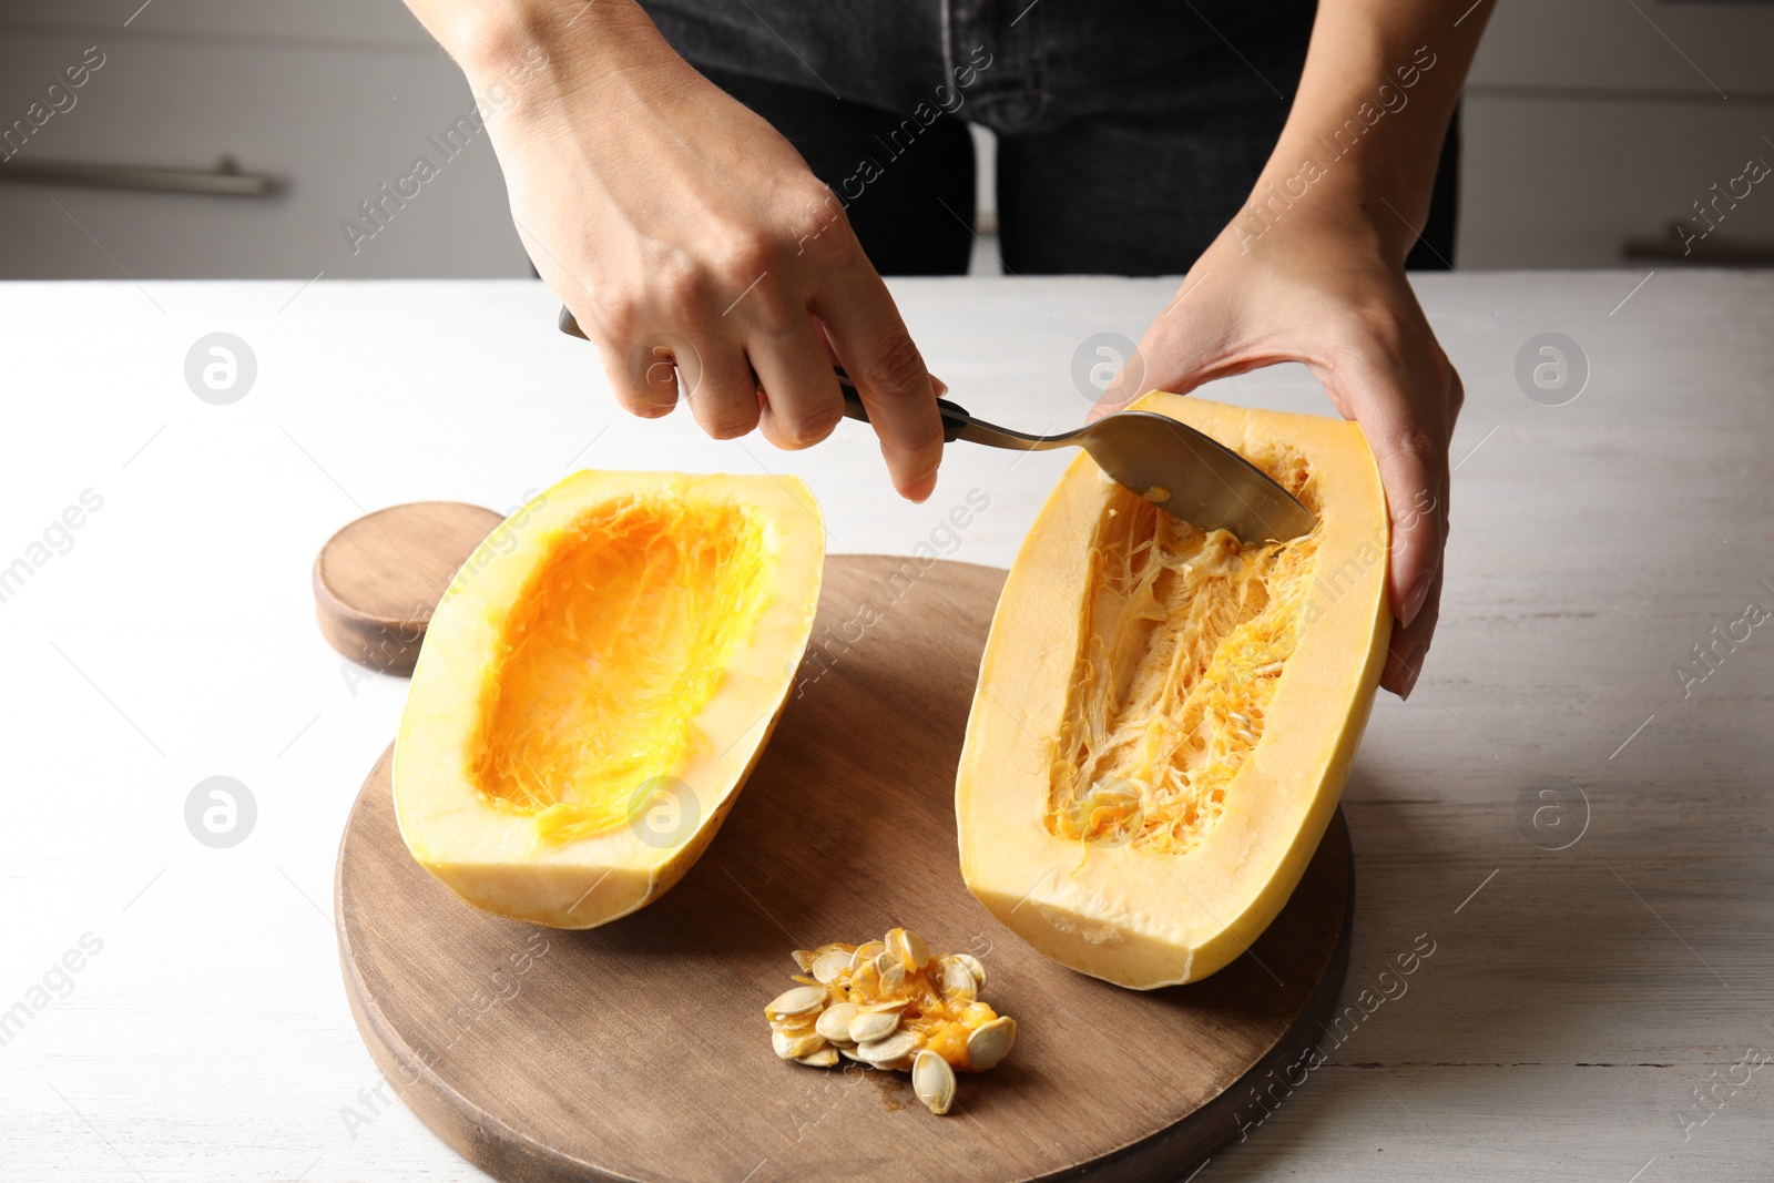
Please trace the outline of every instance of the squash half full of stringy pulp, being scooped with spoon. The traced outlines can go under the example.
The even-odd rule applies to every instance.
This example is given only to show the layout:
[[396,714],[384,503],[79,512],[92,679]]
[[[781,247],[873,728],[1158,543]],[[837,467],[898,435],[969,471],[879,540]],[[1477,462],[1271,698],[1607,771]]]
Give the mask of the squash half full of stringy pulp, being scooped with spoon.
[[962,874],[1047,956],[1150,990],[1228,965],[1299,883],[1373,706],[1389,525],[1361,429],[1153,392],[1318,514],[1240,544],[1080,454],[992,621],[954,811]]

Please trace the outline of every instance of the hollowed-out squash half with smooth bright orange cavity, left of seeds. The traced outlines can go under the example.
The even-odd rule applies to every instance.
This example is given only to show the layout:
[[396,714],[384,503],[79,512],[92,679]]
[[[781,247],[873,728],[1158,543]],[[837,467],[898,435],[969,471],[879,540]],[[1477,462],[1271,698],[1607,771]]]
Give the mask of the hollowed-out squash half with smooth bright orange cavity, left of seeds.
[[426,630],[394,748],[408,850],[536,924],[662,896],[775,727],[823,559],[793,477],[580,472],[545,491]]

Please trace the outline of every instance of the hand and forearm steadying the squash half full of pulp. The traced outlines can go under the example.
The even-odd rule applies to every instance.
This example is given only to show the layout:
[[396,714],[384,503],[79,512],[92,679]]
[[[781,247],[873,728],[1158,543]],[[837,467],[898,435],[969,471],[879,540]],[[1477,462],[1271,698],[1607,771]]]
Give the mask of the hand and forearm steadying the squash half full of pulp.
[[[1391,654],[1407,697],[1440,615],[1448,442],[1465,392],[1405,254],[1428,218],[1442,138],[1490,5],[1320,0],[1306,69],[1251,204],[1213,239],[1096,413],[1153,387],[1304,362],[1380,465],[1393,525]],[[1130,372],[1132,371],[1132,372]]]

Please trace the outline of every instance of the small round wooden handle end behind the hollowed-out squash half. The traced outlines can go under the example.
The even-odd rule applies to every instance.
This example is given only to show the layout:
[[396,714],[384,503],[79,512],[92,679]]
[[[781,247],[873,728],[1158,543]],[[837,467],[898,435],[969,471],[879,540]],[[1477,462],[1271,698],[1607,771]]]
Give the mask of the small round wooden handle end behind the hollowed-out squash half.
[[463,502],[410,502],[346,525],[314,559],[326,644],[373,670],[412,674],[444,589],[502,520]]

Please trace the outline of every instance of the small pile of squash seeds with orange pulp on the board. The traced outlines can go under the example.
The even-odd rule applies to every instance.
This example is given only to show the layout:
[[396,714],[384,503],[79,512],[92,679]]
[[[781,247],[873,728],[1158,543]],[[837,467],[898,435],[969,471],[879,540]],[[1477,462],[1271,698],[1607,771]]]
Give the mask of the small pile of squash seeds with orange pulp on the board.
[[797,949],[795,965],[800,984],[765,1007],[775,1054],[812,1068],[852,1059],[910,1071],[912,1091],[933,1114],[954,1103],[956,1068],[995,1068],[1017,1043],[1017,1020],[979,1000],[979,958],[933,958],[903,928],[860,945]]

